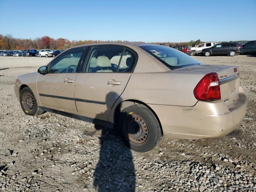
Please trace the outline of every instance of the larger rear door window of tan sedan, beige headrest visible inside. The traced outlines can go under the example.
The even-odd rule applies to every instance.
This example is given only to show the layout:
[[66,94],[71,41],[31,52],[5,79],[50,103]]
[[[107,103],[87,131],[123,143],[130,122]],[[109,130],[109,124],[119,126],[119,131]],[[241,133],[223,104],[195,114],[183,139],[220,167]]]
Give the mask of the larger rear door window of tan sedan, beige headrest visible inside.
[[94,46],[88,53],[83,72],[117,72],[124,52],[122,46]]

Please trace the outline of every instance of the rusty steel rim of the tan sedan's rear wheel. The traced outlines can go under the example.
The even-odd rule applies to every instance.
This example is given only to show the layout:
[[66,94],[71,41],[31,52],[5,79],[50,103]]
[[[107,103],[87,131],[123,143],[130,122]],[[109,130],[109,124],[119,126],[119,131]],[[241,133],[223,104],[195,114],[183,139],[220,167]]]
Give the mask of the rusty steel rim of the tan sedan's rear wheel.
[[125,131],[128,139],[136,144],[142,144],[148,138],[148,126],[145,120],[137,114],[129,115],[125,122]]

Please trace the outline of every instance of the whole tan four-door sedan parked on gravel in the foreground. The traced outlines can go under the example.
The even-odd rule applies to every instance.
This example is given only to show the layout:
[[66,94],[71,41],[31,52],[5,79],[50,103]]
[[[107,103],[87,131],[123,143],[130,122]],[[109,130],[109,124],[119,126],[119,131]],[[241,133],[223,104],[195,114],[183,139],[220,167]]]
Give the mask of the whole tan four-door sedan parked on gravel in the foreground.
[[170,138],[217,138],[246,113],[237,66],[203,65],[166,46],[98,43],[70,48],[18,76],[28,115],[45,111],[115,126],[138,152]]

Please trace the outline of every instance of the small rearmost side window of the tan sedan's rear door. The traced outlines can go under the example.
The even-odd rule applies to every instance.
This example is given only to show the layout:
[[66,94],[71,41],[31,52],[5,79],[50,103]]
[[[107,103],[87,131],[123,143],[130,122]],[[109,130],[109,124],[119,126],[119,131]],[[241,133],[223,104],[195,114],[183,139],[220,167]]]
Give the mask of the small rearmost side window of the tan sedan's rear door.
[[136,56],[131,51],[125,49],[121,62],[118,67],[118,72],[131,72],[135,64]]

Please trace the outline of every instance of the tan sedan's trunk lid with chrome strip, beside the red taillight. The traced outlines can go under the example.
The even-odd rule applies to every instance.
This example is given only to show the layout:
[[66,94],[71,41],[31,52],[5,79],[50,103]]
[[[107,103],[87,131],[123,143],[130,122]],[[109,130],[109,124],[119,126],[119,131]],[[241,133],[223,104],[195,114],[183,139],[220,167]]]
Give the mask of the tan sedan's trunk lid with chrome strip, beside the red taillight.
[[225,101],[226,105],[231,104],[231,102],[236,98],[236,96],[238,96],[238,91],[240,86],[238,66],[194,65],[194,66],[178,68],[176,70],[191,71],[191,72],[192,71],[206,72],[206,74],[210,72],[216,72],[220,80],[221,99]]

